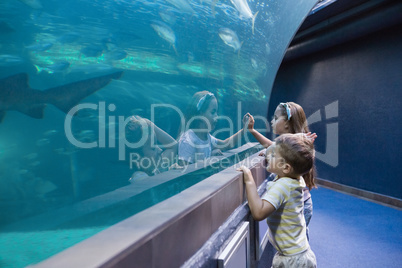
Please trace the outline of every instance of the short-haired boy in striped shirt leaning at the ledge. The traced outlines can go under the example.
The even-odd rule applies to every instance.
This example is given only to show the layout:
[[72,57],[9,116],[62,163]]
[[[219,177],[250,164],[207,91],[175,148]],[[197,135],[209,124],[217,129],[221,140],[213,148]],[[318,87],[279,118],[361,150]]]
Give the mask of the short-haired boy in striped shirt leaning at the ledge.
[[268,237],[276,248],[272,267],[317,267],[303,217],[302,176],[314,166],[313,142],[305,134],[283,134],[266,154],[267,171],[277,174],[262,198],[251,171],[242,166],[248,205],[255,220],[267,218]]

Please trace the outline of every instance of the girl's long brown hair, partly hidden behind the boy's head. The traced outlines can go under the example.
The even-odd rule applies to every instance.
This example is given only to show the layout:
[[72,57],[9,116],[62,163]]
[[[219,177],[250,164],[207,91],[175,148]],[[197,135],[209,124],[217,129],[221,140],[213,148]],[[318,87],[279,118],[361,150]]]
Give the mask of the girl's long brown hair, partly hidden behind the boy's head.
[[[308,133],[310,129],[308,127],[306,114],[304,113],[303,108],[294,102],[286,102],[285,103],[289,110],[291,117],[288,118],[288,113],[286,111],[286,107],[284,104],[279,104],[278,109],[286,119],[286,122],[289,126],[289,133]],[[310,169],[310,171],[303,175],[304,181],[306,182],[307,187],[311,190],[312,188],[317,188],[315,184],[316,178],[316,170],[315,166]]]

